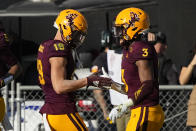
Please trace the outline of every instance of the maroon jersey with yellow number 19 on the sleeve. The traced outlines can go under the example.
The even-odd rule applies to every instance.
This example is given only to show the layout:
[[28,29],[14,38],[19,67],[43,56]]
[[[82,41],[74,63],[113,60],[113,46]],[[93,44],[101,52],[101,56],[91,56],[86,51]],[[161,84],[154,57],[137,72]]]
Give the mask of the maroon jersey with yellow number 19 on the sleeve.
[[45,94],[45,104],[41,108],[41,113],[66,114],[76,112],[75,96],[73,92],[57,94],[52,86],[51,57],[65,57],[68,60],[66,65],[66,79],[71,79],[74,71],[74,60],[71,48],[59,40],[48,40],[43,42],[38,49],[37,69],[39,73],[39,83]]

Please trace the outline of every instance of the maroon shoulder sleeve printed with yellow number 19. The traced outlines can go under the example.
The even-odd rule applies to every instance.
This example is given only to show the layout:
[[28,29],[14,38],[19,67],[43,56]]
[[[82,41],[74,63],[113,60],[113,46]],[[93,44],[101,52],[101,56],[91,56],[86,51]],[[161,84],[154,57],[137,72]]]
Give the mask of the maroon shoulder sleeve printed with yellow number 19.
[[49,44],[47,55],[48,57],[66,57],[70,50],[68,47],[62,42],[54,42]]

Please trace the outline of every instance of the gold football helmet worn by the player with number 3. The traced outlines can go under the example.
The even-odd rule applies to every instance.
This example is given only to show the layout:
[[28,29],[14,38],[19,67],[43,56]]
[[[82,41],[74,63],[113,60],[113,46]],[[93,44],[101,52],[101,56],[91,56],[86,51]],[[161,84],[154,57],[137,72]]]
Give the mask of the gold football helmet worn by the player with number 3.
[[150,26],[149,17],[139,8],[127,8],[122,10],[116,17],[113,27],[114,35],[125,40],[132,40],[139,34],[148,31]]

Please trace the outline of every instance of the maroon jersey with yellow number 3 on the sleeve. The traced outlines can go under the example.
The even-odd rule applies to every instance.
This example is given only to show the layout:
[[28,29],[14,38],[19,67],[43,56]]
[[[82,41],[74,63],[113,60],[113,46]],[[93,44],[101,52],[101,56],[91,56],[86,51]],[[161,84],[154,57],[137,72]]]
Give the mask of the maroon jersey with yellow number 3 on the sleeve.
[[[128,50],[123,50],[122,58],[122,81],[127,86],[128,97],[133,98],[135,91],[141,87],[138,67],[136,61],[138,60],[152,60],[154,69],[153,91],[146,96],[140,103],[133,108],[139,106],[154,106],[159,103],[159,87],[158,87],[158,59],[153,45],[147,42],[137,41],[133,42]],[[140,94],[142,95],[142,94]]]

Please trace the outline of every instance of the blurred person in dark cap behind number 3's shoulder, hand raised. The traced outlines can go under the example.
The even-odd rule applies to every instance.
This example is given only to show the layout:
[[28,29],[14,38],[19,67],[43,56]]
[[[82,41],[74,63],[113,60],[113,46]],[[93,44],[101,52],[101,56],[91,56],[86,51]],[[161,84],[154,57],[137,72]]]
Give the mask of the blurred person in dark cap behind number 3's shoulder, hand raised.
[[154,47],[158,54],[159,60],[159,84],[160,85],[176,85],[178,84],[178,72],[175,64],[171,59],[167,58],[165,51],[167,50],[167,38],[162,32],[149,33],[148,40],[154,41]]

